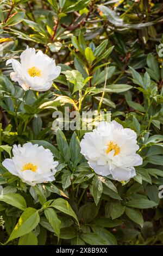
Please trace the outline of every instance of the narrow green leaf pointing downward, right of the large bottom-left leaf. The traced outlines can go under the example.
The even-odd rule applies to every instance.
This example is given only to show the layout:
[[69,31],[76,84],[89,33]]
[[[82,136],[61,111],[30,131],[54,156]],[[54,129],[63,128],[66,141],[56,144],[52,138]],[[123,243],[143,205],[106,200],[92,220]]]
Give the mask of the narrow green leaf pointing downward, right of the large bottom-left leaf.
[[54,232],[57,234],[58,241],[59,241],[61,221],[57,217],[56,212],[51,208],[45,209],[44,213],[45,213],[45,216],[46,216],[47,220],[52,225],[52,227],[54,229]]

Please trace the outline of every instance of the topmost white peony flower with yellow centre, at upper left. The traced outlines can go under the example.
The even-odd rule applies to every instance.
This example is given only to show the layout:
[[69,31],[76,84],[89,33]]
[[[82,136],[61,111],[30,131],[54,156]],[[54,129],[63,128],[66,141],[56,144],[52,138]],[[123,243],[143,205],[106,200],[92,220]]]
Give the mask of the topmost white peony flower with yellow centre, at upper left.
[[16,59],[8,59],[6,65],[12,64],[14,72],[10,74],[11,80],[18,82],[24,90],[46,91],[60,75],[60,66],[56,66],[55,60],[40,50],[36,53],[35,48],[27,46],[20,59],[21,63]]

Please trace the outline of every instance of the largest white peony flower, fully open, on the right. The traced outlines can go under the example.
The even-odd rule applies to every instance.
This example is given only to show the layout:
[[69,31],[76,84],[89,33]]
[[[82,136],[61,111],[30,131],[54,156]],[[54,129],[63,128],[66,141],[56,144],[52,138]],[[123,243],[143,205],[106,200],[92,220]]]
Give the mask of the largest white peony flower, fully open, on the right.
[[142,164],[136,133],[123,129],[116,121],[99,123],[97,129],[87,132],[80,142],[81,153],[95,172],[109,174],[115,180],[126,181],[136,175],[134,166]]

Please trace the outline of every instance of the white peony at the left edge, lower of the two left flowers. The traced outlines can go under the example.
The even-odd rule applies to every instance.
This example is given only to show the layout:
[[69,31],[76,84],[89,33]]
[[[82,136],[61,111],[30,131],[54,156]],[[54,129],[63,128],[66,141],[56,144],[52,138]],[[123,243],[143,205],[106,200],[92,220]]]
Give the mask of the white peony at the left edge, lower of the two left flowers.
[[58,162],[53,160],[49,149],[28,142],[23,147],[14,145],[12,153],[12,159],[5,159],[2,164],[23,182],[35,186],[37,183],[55,180]]

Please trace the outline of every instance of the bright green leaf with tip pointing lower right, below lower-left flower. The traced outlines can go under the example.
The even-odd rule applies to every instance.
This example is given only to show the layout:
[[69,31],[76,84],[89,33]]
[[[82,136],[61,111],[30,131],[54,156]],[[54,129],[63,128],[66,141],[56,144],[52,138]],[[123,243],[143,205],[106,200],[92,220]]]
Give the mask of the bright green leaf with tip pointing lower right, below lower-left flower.
[[50,205],[51,207],[54,207],[55,209],[64,212],[65,214],[68,214],[76,219],[78,222],[78,218],[74,211],[72,210],[70,204],[62,198],[55,199],[54,202]]

